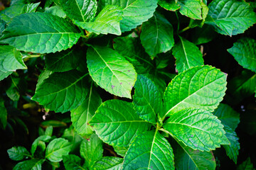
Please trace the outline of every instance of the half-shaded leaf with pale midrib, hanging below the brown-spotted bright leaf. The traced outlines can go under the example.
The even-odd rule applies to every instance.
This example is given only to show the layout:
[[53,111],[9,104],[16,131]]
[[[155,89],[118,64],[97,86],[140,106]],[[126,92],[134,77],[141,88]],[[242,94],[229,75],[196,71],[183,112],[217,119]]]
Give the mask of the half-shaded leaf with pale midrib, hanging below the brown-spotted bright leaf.
[[97,91],[93,88],[91,84],[89,94],[87,94],[85,101],[82,104],[71,111],[71,120],[75,127],[75,130],[80,135],[91,135],[93,128],[88,125],[92,116],[95,115],[95,111],[102,103],[102,100],[97,94]]

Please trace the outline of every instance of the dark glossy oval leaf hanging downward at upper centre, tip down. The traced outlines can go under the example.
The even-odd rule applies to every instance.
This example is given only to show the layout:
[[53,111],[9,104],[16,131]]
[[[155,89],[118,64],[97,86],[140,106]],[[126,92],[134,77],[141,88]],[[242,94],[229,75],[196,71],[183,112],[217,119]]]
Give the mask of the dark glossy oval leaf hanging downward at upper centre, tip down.
[[154,13],[154,16],[142,24],[140,35],[146,52],[155,57],[161,52],[167,52],[174,46],[174,29],[164,16]]

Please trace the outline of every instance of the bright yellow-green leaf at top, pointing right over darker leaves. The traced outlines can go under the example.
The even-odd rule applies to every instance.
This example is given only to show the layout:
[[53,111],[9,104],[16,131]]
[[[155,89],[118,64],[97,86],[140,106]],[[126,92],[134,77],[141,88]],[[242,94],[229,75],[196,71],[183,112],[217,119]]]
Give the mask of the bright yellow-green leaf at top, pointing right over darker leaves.
[[119,6],[105,6],[93,22],[75,21],[75,24],[88,32],[96,34],[112,33],[121,35],[120,21],[122,20],[122,8]]

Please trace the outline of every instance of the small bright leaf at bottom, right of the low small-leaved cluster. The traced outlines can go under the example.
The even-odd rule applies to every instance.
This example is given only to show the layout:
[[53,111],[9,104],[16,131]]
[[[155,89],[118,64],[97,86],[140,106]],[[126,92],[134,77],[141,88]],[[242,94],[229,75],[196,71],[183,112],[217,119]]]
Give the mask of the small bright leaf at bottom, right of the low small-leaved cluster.
[[80,155],[85,159],[85,166],[89,169],[103,155],[103,142],[97,135],[92,134],[89,140],[83,140],[80,145]]

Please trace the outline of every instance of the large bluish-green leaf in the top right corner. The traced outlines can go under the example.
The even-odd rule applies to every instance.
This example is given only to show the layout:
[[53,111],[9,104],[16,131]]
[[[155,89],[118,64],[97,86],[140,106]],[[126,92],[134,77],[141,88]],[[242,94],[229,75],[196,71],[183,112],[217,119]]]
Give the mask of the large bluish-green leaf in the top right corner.
[[236,0],[214,0],[209,5],[206,23],[223,35],[238,35],[256,23],[250,4]]

